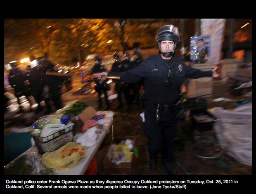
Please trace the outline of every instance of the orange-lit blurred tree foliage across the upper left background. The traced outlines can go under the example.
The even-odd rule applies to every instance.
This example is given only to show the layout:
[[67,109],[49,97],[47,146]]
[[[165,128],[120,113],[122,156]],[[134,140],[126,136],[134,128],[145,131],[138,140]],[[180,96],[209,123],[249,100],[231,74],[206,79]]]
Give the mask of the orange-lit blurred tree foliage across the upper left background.
[[[152,38],[166,20],[5,19],[5,64],[35,54],[69,65],[72,59],[83,62],[92,53],[107,54],[114,50],[124,53],[134,46],[154,47]],[[107,44],[109,40],[112,41]]]

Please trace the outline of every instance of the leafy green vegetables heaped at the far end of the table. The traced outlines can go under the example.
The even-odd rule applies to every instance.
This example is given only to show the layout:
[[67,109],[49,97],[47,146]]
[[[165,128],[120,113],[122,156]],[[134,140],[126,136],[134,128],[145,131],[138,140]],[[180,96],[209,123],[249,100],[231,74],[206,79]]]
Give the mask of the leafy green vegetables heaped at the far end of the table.
[[64,109],[62,110],[62,114],[70,114],[71,116],[77,116],[78,114],[83,112],[83,110],[87,108],[89,105],[90,104],[88,101],[79,99],[75,103],[66,106],[66,108],[64,107]]

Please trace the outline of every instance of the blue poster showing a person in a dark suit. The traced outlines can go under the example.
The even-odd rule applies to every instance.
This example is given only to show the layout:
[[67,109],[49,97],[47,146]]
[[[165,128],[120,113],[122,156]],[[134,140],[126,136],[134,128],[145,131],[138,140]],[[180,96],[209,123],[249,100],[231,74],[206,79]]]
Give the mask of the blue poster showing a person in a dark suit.
[[210,35],[190,37],[190,59],[205,62],[210,55]]

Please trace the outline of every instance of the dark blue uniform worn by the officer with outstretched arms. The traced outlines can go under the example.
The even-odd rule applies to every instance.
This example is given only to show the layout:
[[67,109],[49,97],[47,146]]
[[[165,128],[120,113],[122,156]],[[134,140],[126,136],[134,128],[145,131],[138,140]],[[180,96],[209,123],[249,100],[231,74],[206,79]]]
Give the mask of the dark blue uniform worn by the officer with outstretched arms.
[[[156,154],[162,147],[163,161],[166,164],[173,158],[173,139],[176,132],[176,112],[173,104],[180,96],[180,86],[185,78],[211,77],[212,73],[212,71],[201,71],[187,66],[176,57],[165,60],[157,54],[148,57],[130,71],[110,72],[108,75],[121,76],[121,81],[126,83],[136,83],[145,78],[144,90],[147,104],[143,124],[148,138],[149,154]],[[165,80],[168,80],[168,84]],[[159,120],[156,119],[156,114],[159,115]]]

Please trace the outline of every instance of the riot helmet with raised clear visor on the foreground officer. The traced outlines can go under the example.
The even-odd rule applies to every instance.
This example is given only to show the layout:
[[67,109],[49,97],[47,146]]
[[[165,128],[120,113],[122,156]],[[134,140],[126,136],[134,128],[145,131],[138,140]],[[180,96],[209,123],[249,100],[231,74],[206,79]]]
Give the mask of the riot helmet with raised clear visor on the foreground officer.
[[179,31],[178,28],[173,25],[165,25],[159,28],[157,31],[155,40],[159,47],[159,53],[161,53],[161,41],[163,40],[172,40],[174,42],[174,49],[173,52],[164,52],[165,57],[171,57],[175,53],[175,48],[178,45],[178,42],[180,41]]

